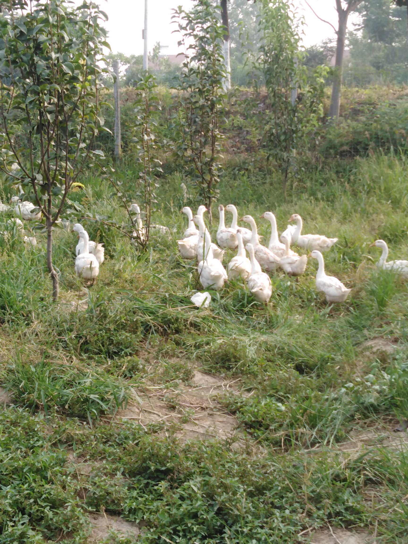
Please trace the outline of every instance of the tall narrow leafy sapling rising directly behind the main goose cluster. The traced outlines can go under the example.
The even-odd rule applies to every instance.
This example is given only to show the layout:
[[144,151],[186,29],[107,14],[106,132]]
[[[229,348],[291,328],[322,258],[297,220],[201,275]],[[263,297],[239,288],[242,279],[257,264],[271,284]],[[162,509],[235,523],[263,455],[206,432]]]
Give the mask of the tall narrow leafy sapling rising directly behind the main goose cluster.
[[214,6],[211,0],[197,2],[191,11],[175,9],[172,19],[178,25],[175,32],[181,34],[178,45],[184,47],[186,55],[177,84],[175,151],[184,159],[199,188],[211,222],[224,138],[225,27],[220,21],[220,7]]

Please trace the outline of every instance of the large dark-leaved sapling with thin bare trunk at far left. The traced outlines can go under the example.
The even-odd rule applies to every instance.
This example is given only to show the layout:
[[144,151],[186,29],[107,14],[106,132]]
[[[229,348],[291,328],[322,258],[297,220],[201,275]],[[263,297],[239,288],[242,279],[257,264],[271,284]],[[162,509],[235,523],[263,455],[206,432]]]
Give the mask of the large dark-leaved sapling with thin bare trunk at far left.
[[[2,170],[41,210],[53,299],[53,229],[103,129],[98,78],[106,14],[93,2],[10,1],[0,15]],[[17,163],[18,168],[10,168]]]

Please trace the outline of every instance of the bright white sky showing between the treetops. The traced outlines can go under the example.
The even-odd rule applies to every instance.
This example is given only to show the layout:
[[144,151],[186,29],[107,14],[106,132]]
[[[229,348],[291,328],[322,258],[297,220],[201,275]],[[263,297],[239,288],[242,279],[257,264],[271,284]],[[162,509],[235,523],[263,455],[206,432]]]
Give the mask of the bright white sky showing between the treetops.
[[[308,0],[314,11],[320,17],[330,21],[337,27],[337,13],[335,0]],[[333,29],[317,19],[307,7],[304,0],[295,0],[305,16],[306,27],[304,44],[306,46],[318,44],[326,38],[334,38]],[[148,44],[149,51],[158,41],[161,45],[168,45],[162,53],[177,53],[177,34],[172,34],[174,28],[171,22],[171,8],[178,5],[190,8],[191,0],[149,0]],[[109,21],[105,24],[108,32],[108,42],[114,53],[121,52],[127,55],[142,54],[143,40],[141,30],[144,26],[144,0],[100,0],[101,9],[106,11]],[[349,28],[351,27],[350,17]]]

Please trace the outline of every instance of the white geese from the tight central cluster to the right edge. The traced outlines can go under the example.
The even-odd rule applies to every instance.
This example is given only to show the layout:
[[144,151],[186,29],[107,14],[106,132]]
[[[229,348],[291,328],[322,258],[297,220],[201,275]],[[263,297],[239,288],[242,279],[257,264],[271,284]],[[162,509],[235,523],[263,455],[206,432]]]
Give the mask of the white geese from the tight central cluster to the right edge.
[[[323,234],[302,234],[302,218],[293,214],[285,232],[279,237],[276,218],[272,212],[265,212],[261,218],[270,222],[271,235],[268,247],[260,243],[255,219],[251,215],[244,215],[242,221],[251,228],[238,226],[238,211],[236,206],[228,204],[220,205],[219,226],[217,231],[217,243],[214,244],[203,219],[207,211],[205,206],[200,206],[197,214],[189,207],[184,207],[182,212],[188,217],[188,227],[184,231],[184,238],[177,240],[180,254],[185,259],[197,259],[200,283],[203,288],[215,290],[222,289],[228,279],[242,279],[254,298],[259,302],[268,302],[272,295],[272,285],[267,272],[283,269],[289,276],[300,276],[305,273],[307,258],[317,259],[318,270],[316,274],[316,288],[323,292],[327,302],[344,302],[351,289],[348,289],[335,276],[325,273],[322,251],[328,251],[337,238],[328,238]],[[225,226],[225,212],[232,213],[230,227]],[[198,228],[197,228],[198,227]],[[308,255],[298,255],[292,249],[291,244],[307,250]],[[392,270],[408,278],[408,261],[387,262],[388,246],[384,240],[376,240],[371,246],[382,249],[382,255],[378,266],[382,269]],[[227,268],[222,264],[222,257],[226,249],[237,249],[237,255],[228,263]],[[246,255],[248,251],[249,258]],[[264,271],[263,271],[264,270]]]

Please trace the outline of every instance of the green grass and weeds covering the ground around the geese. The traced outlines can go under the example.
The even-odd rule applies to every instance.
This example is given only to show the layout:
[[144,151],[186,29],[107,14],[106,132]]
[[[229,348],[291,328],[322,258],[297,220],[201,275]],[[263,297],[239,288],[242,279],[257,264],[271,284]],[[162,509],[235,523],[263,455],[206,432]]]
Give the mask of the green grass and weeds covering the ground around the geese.
[[[368,248],[381,237],[390,259],[408,258],[408,202],[398,196],[408,191],[405,160],[310,167],[288,202],[269,169],[237,158],[227,165],[220,202],[254,215],[266,239],[258,218],[268,209],[280,230],[296,212],[305,232],[339,238],[326,270],[353,291],[337,306],[316,292],[311,259],[299,281],[271,276],[268,306],[231,282],[208,310],[193,307],[194,263],[176,249],[185,228],[180,183],[188,180],[165,171],[153,222],[171,235],[153,234],[146,252],[90,219],[129,228],[110,188],[92,172],[84,177],[79,217],[105,244],[106,262],[85,288],[73,267],[76,237],[55,231],[58,304],[50,301],[44,234],[36,232],[29,251],[17,233],[0,237],[0,372],[15,403],[0,412],[0,543],[86,542],[93,511],[143,520],[140,541],[155,544],[295,544],[327,523],[371,533],[377,526],[379,542],[406,542],[406,455],[375,447],[349,455],[336,446],[352,431],[408,417],[407,287],[376,269],[379,251]],[[129,160],[119,174],[131,191]],[[361,348],[376,337],[396,344],[395,353]],[[238,419],[238,448],[231,440],[183,444],[177,424],[112,420],[132,389],[188,384],[193,364],[239,380],[240,393],[219,399]],[[91,473],[77,473],[72,456]]]

